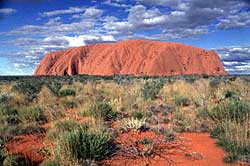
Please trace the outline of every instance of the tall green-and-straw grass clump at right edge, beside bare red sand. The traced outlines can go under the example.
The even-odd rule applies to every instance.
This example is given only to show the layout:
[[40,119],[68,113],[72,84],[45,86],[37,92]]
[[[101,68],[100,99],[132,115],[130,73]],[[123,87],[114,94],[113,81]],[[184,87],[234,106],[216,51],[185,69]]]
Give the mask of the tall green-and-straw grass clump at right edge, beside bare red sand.
[[212,136],[228,152],[227,162],[250,161],[250,105],[228,100],[210,112],[214,122]]

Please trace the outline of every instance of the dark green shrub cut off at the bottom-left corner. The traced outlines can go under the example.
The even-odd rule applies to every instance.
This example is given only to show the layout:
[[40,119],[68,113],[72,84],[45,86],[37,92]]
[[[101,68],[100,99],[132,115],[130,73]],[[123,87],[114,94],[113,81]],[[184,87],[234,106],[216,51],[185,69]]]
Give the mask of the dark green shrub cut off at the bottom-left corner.
[[3,166],[29,166],[29,162],[21,155],[8,155]]

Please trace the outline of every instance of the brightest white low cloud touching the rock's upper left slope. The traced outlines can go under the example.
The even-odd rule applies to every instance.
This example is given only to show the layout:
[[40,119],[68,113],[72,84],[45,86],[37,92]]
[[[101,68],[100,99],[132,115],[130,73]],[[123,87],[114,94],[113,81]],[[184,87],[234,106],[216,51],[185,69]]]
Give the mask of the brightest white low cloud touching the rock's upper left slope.
[[[13,44],[21,50],[0,55],[0,57],[9,58],[16,73],[32,74],[44,55],[51,51],[114,41],[116,41],[116,39],[113,36],[101,34],[53,36],[44,39],[19,38],[17,40],[8,41],[8,44]],[[27,73],[27,71],[30,72]]]

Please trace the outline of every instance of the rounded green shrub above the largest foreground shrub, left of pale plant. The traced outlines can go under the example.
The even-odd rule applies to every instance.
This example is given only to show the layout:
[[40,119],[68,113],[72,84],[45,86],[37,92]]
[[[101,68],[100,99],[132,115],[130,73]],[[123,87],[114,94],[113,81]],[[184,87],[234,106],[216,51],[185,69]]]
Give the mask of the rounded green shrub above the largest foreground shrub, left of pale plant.
[[91,106],[89,112],[95,118],[103,118],[105,121],[114,120],[117,117],[117,113],[112,106],[106,102]]

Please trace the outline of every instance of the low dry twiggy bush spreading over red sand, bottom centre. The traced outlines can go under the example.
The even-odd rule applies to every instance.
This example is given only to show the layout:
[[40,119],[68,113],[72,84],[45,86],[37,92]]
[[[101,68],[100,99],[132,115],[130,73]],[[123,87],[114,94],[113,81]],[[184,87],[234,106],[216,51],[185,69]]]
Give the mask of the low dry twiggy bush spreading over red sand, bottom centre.
[[171,154],[182,150],[179,147],[180,145],[175,142],[165,142],[164,137],[160,134],[151,137],[143,137],[139,133],[134,132],[131,134],[133,134],[133,138],[125,140],[119,140],[118,138],[120,142],[118,144],[118,155],[122,155],[130,160],[144,160],[145,165],[152,164],[151,161],[156,156],[164,157],[165,160],[172,163]]

